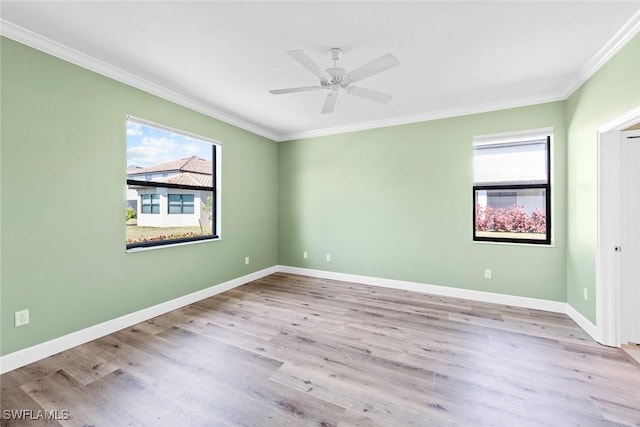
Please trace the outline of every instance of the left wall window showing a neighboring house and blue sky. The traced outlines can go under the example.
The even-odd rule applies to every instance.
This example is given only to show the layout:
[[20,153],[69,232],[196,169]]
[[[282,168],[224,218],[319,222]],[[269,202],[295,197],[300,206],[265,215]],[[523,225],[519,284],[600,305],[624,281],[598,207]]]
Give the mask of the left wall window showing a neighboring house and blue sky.
[[220,151],[217,141],[127,119],[127,249],[218,238]]

